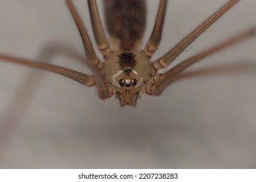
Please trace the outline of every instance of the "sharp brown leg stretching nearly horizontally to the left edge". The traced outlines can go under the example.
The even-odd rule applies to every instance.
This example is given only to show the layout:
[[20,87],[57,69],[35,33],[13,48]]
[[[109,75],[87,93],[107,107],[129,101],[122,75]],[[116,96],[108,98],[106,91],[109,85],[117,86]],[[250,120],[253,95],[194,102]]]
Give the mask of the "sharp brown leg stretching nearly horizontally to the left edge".
[[81,83],[86,86],[94,86],[95,84],[94,77],[92,75],[76,72],[74,70],[70,70],[68,68],[64,68],[61,66],[55,66],[53,64],[48,64],[45,62],[36,62],[33,60],[21,59],[18,57],[12,57],[3,54],[0,54],[0,60],[14,62],[25,66],[31,66],[33,68],[38,68],[40,70],[47,70],[49,72],[58,73],[59,75],[63,75],[64,77],[73,79],[74,81],[77,81],[78,83]]

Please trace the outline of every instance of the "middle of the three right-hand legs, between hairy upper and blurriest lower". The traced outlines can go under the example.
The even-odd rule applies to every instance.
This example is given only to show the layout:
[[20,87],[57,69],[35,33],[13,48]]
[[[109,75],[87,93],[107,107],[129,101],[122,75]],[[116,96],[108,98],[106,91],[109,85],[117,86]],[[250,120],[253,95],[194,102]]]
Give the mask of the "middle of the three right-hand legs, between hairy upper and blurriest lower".
[[256,28],[251,29],[180,62],[180,64],[178,64],[177,66],[171,68],[165,73],[160,74],[160,81],[158,81],[155,85],[152,85],[151,90],[153,90],[154,95],[160,95],[167,86],[169,86],[171,83],[173,83],[173,81],[175,81],[178,74],[183,72],[186,68],[190,67],[195,62],[198,62],[199,60],[202,60],[205,57],[208,57],[209,55],[212,55],[213,53],[216,53],[217,51],[224,49],[225,47],[229,47],[230,45],[241,42],[242,40],[249,38],[255,34]]

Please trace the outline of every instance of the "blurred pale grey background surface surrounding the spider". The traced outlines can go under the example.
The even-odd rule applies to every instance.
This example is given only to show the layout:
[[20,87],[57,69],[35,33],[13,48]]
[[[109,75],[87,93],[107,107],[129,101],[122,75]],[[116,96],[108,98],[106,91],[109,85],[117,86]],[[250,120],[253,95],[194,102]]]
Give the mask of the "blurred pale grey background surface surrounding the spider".
[[[102,10],[102,2],[97,2]],[[224,2],[170,0],[162,44],[154,58]],[[74,3],[92,35],[86,1]],[[158,7],[158,1],[147,3],[145,40]],[[253,7],[255,0],[238,3],[174,65],[255,26]],[[82,51],[63,0],[1,0],[0,25],[1,53],[37,59],[51,42]],[[255,47],[256,37],[191,70],[233,62],[256,64]],[[62,56],[52,62],[89,72]],[[256,168],[255,72],[186,79],[169,86],[162,96],[141,96],[137,107],[121,108],[114,97],[98,99],[95,88],[31,70],[0,61],[0,168]]]

